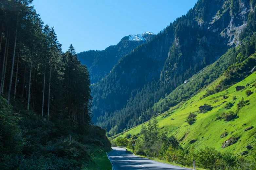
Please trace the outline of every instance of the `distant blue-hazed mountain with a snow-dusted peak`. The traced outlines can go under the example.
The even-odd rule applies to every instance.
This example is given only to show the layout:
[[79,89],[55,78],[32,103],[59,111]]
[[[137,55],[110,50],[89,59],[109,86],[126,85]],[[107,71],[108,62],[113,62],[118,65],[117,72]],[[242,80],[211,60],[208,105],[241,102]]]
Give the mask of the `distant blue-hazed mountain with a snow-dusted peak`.
[[93,84],[108,75],[121,57],[137,46],[150,41],[154,36],[155,34],[151,32],[128,35],[123,37],[117,45],[109,46],[105,50],[88,50],[77,55],[81,63],[89,68],[90,79]]

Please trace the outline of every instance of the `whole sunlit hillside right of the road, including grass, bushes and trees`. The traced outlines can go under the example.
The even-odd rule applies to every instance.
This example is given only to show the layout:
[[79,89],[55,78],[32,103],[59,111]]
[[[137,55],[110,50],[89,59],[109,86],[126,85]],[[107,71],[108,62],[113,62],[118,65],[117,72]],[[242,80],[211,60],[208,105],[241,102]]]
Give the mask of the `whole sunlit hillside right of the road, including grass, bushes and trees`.
[[[196,167],[204,169],[254,170],[256,72],[251,70],[255,66],[256,54],[229,66],[191,99],[111,137],[111,143],[135,141],[136,154],[169,163],[192,166],[195,159]],[[224,85],[225,90],[218,92]],[[240,86],[243,89],[236,89]],[[132,148],[130,142],[126,146]]]

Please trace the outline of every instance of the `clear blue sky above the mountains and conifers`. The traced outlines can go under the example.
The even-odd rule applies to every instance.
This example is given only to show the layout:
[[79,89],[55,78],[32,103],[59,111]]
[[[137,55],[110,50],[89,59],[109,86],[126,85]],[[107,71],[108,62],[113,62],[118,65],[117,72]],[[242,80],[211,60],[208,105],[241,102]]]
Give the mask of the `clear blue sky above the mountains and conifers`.
[[54,26],[66,51],[104,50],[122,37],[153,32],[187,13],[197,0],[34,0],[44,24]]

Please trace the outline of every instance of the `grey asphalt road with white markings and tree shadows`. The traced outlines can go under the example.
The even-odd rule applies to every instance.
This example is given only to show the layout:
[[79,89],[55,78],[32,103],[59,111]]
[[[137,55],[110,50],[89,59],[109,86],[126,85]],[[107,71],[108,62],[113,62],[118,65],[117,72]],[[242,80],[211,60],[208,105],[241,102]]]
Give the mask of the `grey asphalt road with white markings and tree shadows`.
[[113,151],[111,151],[108,156],[110,161],[114,163],[115,170],[188,170],[188,168],[161,163],[125,153],[124,148],[112,147],[112,149]]

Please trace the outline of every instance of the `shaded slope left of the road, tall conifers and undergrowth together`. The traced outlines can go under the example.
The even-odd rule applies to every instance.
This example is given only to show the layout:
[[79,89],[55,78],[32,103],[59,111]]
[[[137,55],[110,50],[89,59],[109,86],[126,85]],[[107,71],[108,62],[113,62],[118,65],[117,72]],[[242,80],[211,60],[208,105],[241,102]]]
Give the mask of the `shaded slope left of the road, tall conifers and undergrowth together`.
[[93,159],[111,144],[91,125],[88,68],[31,3],[0,1],[0,169],[104,169]]

